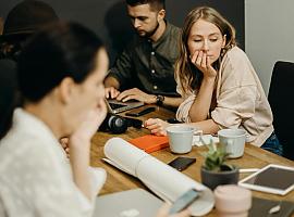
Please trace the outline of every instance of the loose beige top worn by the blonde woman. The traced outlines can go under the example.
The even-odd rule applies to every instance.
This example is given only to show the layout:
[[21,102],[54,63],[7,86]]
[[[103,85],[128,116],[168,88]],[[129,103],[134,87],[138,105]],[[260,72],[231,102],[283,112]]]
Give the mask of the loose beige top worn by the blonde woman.
[[[181,87],[177,90],[183,92]],[[179,106],[176,118],[189,123],[188,111],[197,94],[183,97],[185,101]],[[243,128],[247,131],[247,142],[257,146],[261,146],[272,133],[269,102],[250,61],[237,47],[223,56],[217,79],[216,100],[217,106],[209,115],[220,129]]]

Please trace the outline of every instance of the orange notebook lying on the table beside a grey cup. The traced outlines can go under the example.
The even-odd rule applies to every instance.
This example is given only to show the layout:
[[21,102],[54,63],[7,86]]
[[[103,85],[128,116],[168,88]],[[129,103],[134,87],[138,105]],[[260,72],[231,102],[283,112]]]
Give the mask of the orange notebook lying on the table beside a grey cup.
[[154,135],[145,135],[136,139],[131,139],[128,142],[147,153],[151,153],[169,146],[168,137],[158,137]]

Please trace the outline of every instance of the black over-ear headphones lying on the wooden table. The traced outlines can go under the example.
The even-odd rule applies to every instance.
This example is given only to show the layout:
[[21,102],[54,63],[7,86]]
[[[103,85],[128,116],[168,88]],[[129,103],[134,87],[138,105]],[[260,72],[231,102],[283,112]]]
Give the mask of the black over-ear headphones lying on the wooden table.
[[101,131],[110,131],[112,133],[123,133],[126,131],[127,127],[135,127],[140,129],[143,122],[140,119],[123,117],[120,115],[113,115],[108,113],[106,119],[99,127]]

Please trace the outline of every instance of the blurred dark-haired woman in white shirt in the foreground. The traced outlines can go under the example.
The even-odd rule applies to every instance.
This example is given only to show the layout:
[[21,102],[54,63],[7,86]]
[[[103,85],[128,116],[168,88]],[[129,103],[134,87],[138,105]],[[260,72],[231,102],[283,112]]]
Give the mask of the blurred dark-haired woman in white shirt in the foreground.
[[[101,41],[78,24],[54,24],[26,44],[19,59],[24,104],[0,141],[0,216],[91,216],[106,179],[103,169],[89,167],[89,150],[107,113],[107,69]],[[11,119],[4,123],[1,135]],[[70,138],[70,161],[62,137]],[[167,217],[168,209],[158,217]]]

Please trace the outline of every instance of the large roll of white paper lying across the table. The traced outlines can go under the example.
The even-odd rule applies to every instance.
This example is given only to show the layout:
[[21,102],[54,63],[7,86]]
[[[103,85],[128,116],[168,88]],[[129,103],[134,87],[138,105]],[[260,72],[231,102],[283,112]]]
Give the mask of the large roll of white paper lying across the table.
[[113,166],[137,177],[164,201],[174,202],[192,188],[201,191],[200,197],[191,206],[193,216],[206,215],[215,205],[210,189],[123,139],[110,139],[105,145],[105,154]]

